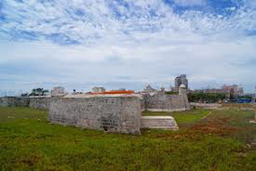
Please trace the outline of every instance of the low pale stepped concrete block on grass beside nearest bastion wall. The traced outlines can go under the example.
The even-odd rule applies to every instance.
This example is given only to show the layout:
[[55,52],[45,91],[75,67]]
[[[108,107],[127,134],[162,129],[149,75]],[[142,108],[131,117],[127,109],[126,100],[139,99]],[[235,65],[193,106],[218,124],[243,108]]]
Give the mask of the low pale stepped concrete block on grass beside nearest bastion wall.
[[142,116],[141,128],[179,130],[179,127],[172,116]]

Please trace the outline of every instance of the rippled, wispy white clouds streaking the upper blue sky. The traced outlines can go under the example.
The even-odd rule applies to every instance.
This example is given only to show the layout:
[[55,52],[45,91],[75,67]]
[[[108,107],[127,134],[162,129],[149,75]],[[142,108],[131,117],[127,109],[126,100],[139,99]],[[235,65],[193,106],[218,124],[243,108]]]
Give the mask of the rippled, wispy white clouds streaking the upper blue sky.
[[[256,27],[255,10],[243,8],[237,9],[232,16],[220,17],[193,10],[177,15],[160,0],[128,1],[127,5],[112,1],[31,2],[6,2],[2,11],[9,22],[2,23],[1,30],[7,33],[32,31],[39,39],[60,34],[79,43],[92,44],[144,41],[161,32],[215,34]],[[176,2],[184,5],[203,3],[201,0]],[[81,15],[77,15],[77,11]]]

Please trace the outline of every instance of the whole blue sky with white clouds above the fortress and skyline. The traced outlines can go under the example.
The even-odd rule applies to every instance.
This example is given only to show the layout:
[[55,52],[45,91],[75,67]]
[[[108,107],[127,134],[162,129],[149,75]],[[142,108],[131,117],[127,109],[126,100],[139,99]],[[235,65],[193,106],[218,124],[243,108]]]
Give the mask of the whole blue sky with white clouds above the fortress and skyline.
[[[256,85],[255,0],[0,0],[0,95]],[[3,94],[3,93],[2,93]]]

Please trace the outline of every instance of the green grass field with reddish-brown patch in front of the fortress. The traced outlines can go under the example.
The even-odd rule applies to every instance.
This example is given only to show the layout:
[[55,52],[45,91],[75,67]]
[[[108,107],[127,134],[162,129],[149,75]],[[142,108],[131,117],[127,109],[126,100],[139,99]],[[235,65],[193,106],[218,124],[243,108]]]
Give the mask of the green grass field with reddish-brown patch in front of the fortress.
[[143,115],[172,115],[180,130],[104,134],[49,124],[46,111],[0,107],[1,170],[256,170],[252,111]]

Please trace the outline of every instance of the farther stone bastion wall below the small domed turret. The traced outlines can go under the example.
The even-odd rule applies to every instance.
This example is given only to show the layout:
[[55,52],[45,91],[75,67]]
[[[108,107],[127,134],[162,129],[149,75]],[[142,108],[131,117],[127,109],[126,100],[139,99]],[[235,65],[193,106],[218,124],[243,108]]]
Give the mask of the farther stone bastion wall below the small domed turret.
[[184,95],[168,95],[155,93],[144,95],[144,108],[149,111],[184,111],[189,110],[188,97]]

